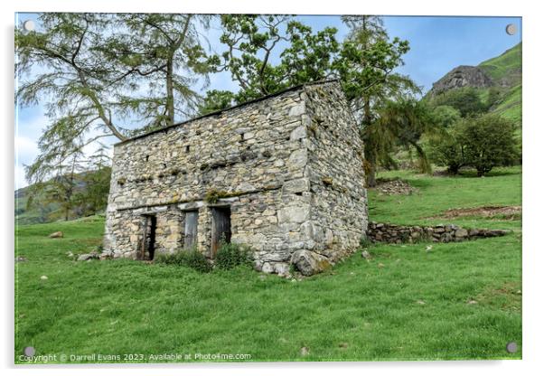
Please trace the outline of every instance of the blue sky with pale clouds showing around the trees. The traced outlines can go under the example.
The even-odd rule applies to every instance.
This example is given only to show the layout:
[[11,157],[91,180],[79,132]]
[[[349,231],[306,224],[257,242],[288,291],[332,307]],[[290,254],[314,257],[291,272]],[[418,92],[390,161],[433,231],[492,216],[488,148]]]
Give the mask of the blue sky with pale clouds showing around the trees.
[[[35,19],[35,15],[19,15],[20,20],[29,18]],[[314,30],[336,27],[339,39],[347,33],[337,15],[301,15],[299,18]],[[398,36],[410,42],[410,51],[404,57],[405,65],[398,71],[408,74],[425,91],[456,66],[477,65],[521,42],[521,17],[384,16],[384,24],[390,37]],[[505,32],[507,24],[515,24],[518,32],[508,35]],[[214,44],[219,35],[217,28],[208,33],[216,51],[221,49],[220,45]],[[225,72],[212,75],[208,89],[236,88]],[[20,188],[27,185],[23,164],[31,164],[38,154],[37,140],[48,120],[43,115],[42,105],[16,108],[15,114],[14,179],[15,188]]]

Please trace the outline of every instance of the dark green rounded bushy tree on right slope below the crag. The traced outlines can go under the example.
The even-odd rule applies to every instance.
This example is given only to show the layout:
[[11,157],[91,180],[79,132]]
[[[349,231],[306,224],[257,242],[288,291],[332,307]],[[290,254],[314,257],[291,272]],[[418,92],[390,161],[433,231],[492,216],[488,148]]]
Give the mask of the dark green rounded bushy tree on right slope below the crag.
[[457,174],[464,166],[483,176],[495,166],[511,165],[519,159],[513,123],[495,114],[459,121],[446,135],[432,139],[431,159]]

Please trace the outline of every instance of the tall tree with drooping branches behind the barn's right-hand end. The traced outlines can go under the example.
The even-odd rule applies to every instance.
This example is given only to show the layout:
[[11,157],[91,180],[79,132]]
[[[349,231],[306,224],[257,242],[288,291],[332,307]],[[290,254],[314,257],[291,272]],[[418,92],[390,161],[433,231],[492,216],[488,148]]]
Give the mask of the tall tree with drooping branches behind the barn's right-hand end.
[[395,72],[403,64],[402,56],[409,51],[409,45],[399,38],[389,42],[379,16],[346,16],[342,20],[350,34],[342,43],[341,58],[335,68],[361,125],[367,185],[373,187],[377,164],[389,160],[396,137],[383,120],[376,121],[377,109],[384,108],[391,99],[402,100],[420,89],[408,77]]

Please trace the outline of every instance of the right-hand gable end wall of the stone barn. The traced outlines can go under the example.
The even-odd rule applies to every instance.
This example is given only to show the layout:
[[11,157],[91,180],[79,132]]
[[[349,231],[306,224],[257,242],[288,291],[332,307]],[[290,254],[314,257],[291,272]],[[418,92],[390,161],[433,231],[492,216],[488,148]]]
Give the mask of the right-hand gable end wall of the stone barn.
[[314,251],[335,260],[357,249],[367,228],[363,146],[339,87],[309,87],[306,95]]

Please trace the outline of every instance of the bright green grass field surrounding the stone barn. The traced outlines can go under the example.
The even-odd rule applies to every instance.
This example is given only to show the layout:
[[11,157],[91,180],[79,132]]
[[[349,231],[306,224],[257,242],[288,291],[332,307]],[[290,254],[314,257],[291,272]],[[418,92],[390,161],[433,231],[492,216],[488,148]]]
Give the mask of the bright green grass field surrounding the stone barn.
[[[430,251],[427,243],[377,245],[369,261],[357,252],[324,274],[291,281],[248,268],[199,274],[67,257],[96,248],[99,217],[20,226],[16,256],[28,260],[15,264],[15,362],[23,363],[25,346],[59,360],[121,357],[100,362],[156,362],[150,355],[163,353],[192,355],[177,362],[202,362],[195,353],[250,354],[250,362],[521,359],[521,221],[428,219],[451,208],[520,205],[521,168],[485,178],[383,176],[395,175],[418,192],[370,192],[371,220],[513,231]],[[48,239],[56,230],[65,238]],[[509,342],[517,353],[506,352]]]

